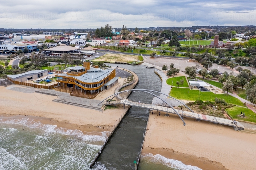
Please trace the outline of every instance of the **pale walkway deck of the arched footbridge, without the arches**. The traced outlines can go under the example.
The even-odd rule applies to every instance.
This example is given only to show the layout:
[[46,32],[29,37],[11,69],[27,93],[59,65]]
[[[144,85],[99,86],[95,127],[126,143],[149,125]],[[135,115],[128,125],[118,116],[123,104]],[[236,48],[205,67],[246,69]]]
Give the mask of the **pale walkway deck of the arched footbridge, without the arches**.
[[[143,107],[143,108],[149,108],[149,109],[152,109],[152,110],[159,110],[159,111],[163,111],[163,112],[167,112],[167,113],[176,114],[172,108],[165,107],[165,106],[157,106],[157,105],[144,104],[144,103],[139,104],[137,102],[132,102],[130,100],[121,100],[119,103],[130,105],[130,106],[138,106],[138,107]],[[176,111],[178,112],[177,109],[176,109]],[[228,125],[228,126],[232,126],[232,127],[237,126],[237,127],[240,127],[240,128],[244,128],[244,126],[242,124],[240,124],[239,122],[237,122],[237,125],[234,125],[234,124],[231,124],[231,123],[233,123],[232,120],[224,119],[224,118],[220,118],[220,117],[209,116],[209,115],[193,113],[193,112],[188,112],[188,111],[182,111],[182,112],[179,112],[179,114],[181,116],[195,118],[195,119],[204,120],[204,121],[208,121],[208,122]]]

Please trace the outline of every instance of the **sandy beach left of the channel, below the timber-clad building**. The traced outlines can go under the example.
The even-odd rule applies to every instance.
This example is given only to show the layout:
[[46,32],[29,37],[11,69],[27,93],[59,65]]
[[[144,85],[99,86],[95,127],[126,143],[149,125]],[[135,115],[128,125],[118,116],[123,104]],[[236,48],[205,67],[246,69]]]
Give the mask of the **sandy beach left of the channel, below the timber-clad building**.
[[124,113],[123,107],[103,112],[53,102],[57,96],[23,93],[0,86],[0,115],[28,117],[43,124],[78,129],[83,133],[110,131]]

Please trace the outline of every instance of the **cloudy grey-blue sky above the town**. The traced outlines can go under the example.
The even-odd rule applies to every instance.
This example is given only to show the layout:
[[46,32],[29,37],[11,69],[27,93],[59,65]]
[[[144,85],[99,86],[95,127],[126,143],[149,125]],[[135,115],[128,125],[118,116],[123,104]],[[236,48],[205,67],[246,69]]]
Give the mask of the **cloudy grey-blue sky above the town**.
[[0,4],[0,28],[256,25],[256,1],[249,0],[8,0]]

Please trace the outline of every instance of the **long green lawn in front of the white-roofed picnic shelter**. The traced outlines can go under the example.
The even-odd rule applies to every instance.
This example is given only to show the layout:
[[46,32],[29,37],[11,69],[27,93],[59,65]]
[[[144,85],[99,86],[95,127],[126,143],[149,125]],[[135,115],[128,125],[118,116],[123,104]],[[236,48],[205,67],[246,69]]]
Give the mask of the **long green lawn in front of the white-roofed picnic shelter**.
[[[181,100],[196,101],[196,100],[199,100],[199,90],[173,88],[170,92],[170,96],[173,96],[174,98],[181,99]],[[208,100],[208,101],[214,102],[216,97],[225,99],[227,103],[243,106],[243,103],[239,99],[231,95],[227,96],[227,94],[214,94],[212,92],[204,92],[204,91],[200,92],[200,100],[202,101]]]

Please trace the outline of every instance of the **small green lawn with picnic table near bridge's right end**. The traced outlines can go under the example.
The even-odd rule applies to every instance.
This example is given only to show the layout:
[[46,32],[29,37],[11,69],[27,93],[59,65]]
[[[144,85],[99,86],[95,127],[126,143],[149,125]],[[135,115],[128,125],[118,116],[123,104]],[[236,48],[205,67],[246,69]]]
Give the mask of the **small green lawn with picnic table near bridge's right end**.
[[[244,120],[248,122],[254,122],[256,123],[256,114],[250,110],[249,108],[243,108],[243,107],[230,107],[226,109],[226,111],[234,118],[239,120]],[[238,115],[241,114],[241,112],[244,112],[245,118],[239,117]]]

